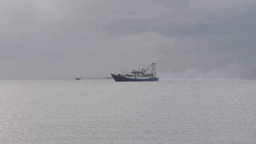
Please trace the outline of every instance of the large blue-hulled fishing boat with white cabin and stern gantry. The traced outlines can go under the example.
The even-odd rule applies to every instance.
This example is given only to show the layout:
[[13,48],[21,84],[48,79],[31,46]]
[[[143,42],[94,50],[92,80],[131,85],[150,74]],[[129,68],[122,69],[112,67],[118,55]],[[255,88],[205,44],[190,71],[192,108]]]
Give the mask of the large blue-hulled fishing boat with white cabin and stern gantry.
[[158,81],[155,75],[155,63],[152,63],[147,69],[133,70],[130,73],[111,73],[115,81]]

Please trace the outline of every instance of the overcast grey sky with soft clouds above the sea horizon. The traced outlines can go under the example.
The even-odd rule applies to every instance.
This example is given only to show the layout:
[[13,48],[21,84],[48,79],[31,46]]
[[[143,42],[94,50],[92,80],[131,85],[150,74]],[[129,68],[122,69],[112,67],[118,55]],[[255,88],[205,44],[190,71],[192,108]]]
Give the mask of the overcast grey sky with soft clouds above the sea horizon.
[[256,76],[256,0],[1,0],[0,78]]

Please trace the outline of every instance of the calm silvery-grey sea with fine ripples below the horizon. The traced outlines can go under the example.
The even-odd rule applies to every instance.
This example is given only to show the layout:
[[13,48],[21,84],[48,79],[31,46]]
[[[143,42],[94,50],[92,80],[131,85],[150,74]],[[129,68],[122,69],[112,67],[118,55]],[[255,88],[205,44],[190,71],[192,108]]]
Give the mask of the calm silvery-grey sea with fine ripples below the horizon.
[[0,144],[256,144],[256,79],[0,80]]

